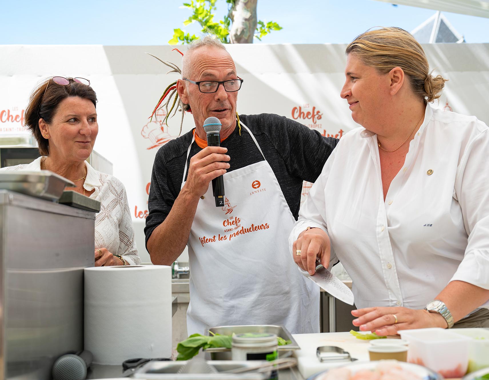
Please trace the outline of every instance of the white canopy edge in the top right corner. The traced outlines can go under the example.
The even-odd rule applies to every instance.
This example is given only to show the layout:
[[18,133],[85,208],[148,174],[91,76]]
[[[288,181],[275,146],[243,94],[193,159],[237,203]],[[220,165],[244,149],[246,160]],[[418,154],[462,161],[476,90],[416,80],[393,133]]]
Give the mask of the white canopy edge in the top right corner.
[[489,18],[489,1],[483,0],[378,0],[463,15]]

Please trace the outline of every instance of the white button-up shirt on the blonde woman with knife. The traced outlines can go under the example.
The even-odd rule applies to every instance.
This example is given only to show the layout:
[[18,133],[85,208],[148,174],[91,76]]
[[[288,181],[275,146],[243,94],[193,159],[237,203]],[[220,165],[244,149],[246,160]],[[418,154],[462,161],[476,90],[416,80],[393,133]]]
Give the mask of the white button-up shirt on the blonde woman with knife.
[[422,309],[453,280],[489,289],[488,126],[426,106],[385,201],[377,135],[350,131],[312,186],[289,243],[308,226],[328,232],[331,262],[339,259],[352,277],[358,308]]

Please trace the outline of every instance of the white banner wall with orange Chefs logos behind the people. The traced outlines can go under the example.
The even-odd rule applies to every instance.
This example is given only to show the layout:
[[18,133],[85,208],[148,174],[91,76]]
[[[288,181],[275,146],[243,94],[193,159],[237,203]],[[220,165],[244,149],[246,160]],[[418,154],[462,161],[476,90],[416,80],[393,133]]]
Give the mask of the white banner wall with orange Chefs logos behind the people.
[[[179,46],[181,47],[181,46]],[[341,138],[357,127],[344,83],[345,45],[228,45],[238,75],[240,114],[276,113],[324,136]],[[476,115],[489,124],[489,44],[423,46],[431,68],[449,79],[436,106]],[[148,119],[163,90],[178,79],[155,58],[181,66],[173,46],[0,45],[0,136],[28,133],[23,113],[32,89],[49,76],[83,77],[97,93],[99,134],[94,149],[113,163],[133,212],[136,243],[143,262],[151,170],[157,149],[178,137],[181,113],[165,124],[166,111]],[[194,127],[186,114],[181,133]],[[232,152],[230,152],[232,154]],[[314,154],[313,152],[311,154]],[[304,193],[311,184],[306,183]],[[182,261],[188,261],[185,255]]]

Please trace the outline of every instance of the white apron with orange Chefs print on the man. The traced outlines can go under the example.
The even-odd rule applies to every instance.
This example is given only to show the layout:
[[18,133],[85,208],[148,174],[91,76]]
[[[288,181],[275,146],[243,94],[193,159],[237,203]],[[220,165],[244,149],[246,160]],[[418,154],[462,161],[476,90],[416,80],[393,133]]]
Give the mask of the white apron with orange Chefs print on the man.
[[[241,125],[263,156],[255,136]],[[232,160],[233,153],[228,154]],[[187,162],[182,187],[186,171]],[[264,161],[225,173],[223,180],[225,206],[216,207],[209,184],[187,243],[188,334],[246,324],[280,324],[292,334],[318,333],[319,287],[297,271],[291,258],[288,237],[295,220],[265,156]]]

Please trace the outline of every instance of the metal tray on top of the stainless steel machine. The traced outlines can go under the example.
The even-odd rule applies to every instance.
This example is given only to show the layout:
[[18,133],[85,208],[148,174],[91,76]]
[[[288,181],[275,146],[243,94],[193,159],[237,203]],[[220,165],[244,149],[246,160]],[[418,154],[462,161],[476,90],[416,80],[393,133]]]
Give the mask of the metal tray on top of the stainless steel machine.
[[5,171],[0,173],[0,189],[11,190],[36,198],[58,200],[65,187],[75,184],[49,170]]

